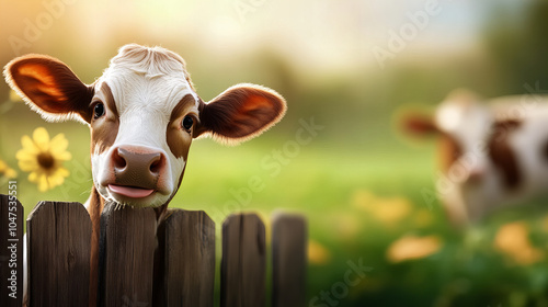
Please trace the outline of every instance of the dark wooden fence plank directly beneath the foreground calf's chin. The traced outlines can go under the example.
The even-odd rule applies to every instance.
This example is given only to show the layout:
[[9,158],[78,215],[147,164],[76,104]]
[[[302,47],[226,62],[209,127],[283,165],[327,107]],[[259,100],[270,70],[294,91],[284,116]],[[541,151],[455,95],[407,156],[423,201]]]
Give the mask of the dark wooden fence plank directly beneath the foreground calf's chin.
[[156,228],[152,208],[105,205],[99,247],[99,306],[152,306]]

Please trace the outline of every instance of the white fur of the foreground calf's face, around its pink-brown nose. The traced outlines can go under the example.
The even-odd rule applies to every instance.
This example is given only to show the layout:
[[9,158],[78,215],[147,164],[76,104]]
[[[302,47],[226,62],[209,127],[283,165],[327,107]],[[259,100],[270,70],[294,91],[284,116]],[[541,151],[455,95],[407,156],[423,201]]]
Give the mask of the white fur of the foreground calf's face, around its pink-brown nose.
[[[142,57],[142,55],[140,56]],[[135,62],[135,60],[140,61]],[[104,101],[106,94],[102,92],[101,84],[105,82],[112,91],[115,113],[119,115],[114,143],[103,152],[98,150],[92,152],[94,184],[106,200],[122,202],[116,200],[115,195],[107,189],[107,184],[112,184],[116,180],[111,161],[113,151],[121,147],[138,148],[145,152],[160,152],[167,158],[165,168],[160,173],[158,189],[151,195],[152,197],[147,197],[146,204],[139,204],[140,200],[132,200],[129,204],[159,206],[167,203],[179,187],[186,164],[186,155],[175,157],[170,149],[167,138],[168,125],[173,124],[171,123],[172,112],[186,95],[193,96],[194,100],[182,110],[185,114],[195,114],[197,117],[199,100],[186,79],[184,66],[175,59],[168,62],[165,60],[169,59],[163,58],[162,62],[151,61],[147,64],[148,67],[144,67],[144,59],[115,57],[111,67],[105,70],[96,83],[95,89],[99,91],[96,91],[94,99]],[[105,106],[106,112],[114,112],[106,103]],[[180,122],[181,118],[178,121]],[[176,124],[180,125],[180,123]],[[91,126],[93,134],[93,123]],[[184,129],[181,129],[180,133],[189,134]],[[189,134],[189,136],[182,137],[185,140],[182,146],[189,147],[192,136]]]

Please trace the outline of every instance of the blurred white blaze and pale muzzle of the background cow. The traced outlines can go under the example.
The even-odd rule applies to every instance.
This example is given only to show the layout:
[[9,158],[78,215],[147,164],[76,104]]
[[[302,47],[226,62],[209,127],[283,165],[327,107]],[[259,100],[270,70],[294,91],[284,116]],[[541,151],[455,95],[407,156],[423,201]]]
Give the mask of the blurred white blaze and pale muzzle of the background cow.
[[[452,218],[468,220],[477,216],[480,204],[489,200],[498,185],[488,143],[494,117],[490,110],[469,93],[448,96],[436,110],[435,125],[445,134],[449,148],[458,155],[445,170],[438,187]],[[453,155],[455,152],[444,152]]]

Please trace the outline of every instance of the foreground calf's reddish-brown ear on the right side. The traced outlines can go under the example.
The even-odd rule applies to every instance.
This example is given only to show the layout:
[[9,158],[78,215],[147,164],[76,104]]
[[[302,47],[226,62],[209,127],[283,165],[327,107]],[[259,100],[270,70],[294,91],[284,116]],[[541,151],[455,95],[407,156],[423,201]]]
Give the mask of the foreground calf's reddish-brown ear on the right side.
[[194,137],[210,135],[226,144],[253,138],[279,122],[287,109],[274,90],[255,84],[229,88],[208,103],[201,103]]

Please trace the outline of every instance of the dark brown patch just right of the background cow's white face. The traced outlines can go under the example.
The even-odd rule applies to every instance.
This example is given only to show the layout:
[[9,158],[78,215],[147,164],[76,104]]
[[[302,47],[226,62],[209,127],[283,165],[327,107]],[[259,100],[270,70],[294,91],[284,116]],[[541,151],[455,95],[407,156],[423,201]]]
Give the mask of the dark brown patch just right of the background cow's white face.
[[499,121],[493,124],[493,134],[488,140],[489,157],[502,171],[504,184],[515,189],[522,181],[522,173],[514,151],[510,146],[510,135],[522,125],[517,120]]

